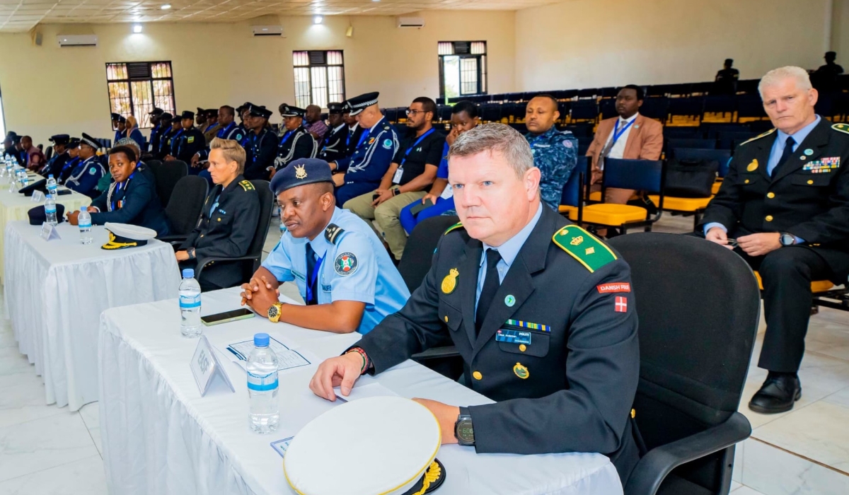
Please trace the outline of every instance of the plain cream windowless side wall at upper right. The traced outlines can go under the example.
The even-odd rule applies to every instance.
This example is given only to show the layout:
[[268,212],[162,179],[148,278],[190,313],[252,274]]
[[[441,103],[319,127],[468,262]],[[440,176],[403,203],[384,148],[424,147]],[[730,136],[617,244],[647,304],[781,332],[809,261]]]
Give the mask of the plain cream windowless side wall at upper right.
[[[516,87],[712,81],[727,58],[741,79],[781,65],[816,68],[828,49],[829,2],[571,0],[527,8],[516,13]],[[843,56],[849,63],[849,50]]]

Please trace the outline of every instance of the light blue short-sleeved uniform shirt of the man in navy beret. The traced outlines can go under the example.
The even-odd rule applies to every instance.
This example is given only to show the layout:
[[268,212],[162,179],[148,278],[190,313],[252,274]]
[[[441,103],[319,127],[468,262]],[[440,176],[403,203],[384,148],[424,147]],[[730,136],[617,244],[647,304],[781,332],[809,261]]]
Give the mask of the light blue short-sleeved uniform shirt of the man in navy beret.
[[[374,230],[351,211],[335,208],[330,223],[344,229],[328,242],[324,233],[315,239],[295,239],[283,233],[262,266],[280,282],[295,280],[306,300],[306,243],[322,260],[318,267],[318,304],[360,301],[366,304],[357,332],[367,334],[387,315],[400,310],[410,297],[407,284],[389,258]],[[318,265],[318,262],[316,263]]]

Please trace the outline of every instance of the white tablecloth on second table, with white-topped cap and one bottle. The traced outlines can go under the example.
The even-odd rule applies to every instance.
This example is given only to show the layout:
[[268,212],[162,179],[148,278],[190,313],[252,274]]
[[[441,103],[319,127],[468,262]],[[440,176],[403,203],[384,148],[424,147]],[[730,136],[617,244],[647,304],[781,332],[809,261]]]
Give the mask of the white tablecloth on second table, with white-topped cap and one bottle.
[[124,250],[102,250],[109,234],[57,227],[45,241],[40,226],[11,222],[5,231],[6,314],[20,352],[44,377],[47,403],[76,411],[98,400],[98,326],[110,307],[177,297],[180,276],[171,245],[153,240]]

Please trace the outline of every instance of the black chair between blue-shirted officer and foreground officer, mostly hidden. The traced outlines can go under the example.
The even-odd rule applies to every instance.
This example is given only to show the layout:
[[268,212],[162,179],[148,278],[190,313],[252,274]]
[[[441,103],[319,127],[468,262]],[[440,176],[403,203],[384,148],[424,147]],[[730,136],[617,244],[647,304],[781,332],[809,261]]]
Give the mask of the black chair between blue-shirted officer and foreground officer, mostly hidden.
[[[430,271],[430,262],[442,234],[457,222],[459,218],[453,216],[430,217],[413,228],[413,233],[410,233],[404,247],[401,262],[398,263],[398,272],[401,273],[410,293],[419,288],[424,276]],[[412,359],[451,380],[457,380],[463,374],[463,358],[454,346],[433,347],[413,354]]]

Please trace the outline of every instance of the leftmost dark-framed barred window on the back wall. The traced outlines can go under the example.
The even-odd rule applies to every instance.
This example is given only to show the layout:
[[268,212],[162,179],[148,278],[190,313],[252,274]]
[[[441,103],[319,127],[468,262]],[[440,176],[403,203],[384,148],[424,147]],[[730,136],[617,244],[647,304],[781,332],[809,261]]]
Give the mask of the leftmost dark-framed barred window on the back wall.
[[174,78],[171,62],[117,62],[106,64],[110,111],[133,115],[138,127],[150,128],[149,112],[158,107],[174,115]]

